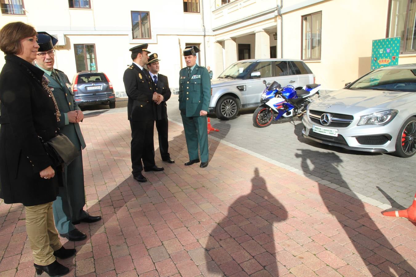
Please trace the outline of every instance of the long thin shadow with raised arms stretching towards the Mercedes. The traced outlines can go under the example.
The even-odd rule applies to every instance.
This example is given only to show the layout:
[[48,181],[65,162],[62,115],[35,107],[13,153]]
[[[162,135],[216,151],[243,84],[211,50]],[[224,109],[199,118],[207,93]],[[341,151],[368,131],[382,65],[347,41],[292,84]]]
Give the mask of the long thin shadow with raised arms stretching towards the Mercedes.
[[[313,157],[319,155],[324,155],[327,157],[327,161],[332,161],[327,165],[327,171],[341,176],[338,167],[343,161],[335,153],[300,149],[300,153],[295,154],[296,158],[301,158],[301,166],[304,172],[315,176],[320,171],[318,166],[319,159]],[[312,164],[313,167],[310,167],[309,164]],[[348,184],[345,181],[343,183],[346,184],[344,187],[349,189]],[[391,245],[390,239],[385,237],[376,223],[374,223],[374,215],[370,215],[367,212],[366,205],[361,200],[320,183],[318,183],[318,186],[319,194],[327,210],[338,222],[330,223],[332,226],[337,227],[329,227],[328,230],[325,230],[324,235],[331,237],[338,232],[332,234],[330,229],[335,230],[338,226],[342,228],[344,234],[347,235],[345,239],[349,239],[352,243],[347,248],[357,253],[366,266],[368,272],[363,272],[364,274],[369,273],[371,276],[374,276],[383,270],[390,275],[401,276],[407,271],[411,276],[416,276],[416,270],[403,256],[396,252],[393,245]],[[351,190],[350,193],[352,193]],[[377,220],[380,220],[379,225],[387,224],[387,222],[382,221],[382,218]],[[345,245],[347,246],[348,243]],[[339,250],[342,246],[339,245],[337,248]]]

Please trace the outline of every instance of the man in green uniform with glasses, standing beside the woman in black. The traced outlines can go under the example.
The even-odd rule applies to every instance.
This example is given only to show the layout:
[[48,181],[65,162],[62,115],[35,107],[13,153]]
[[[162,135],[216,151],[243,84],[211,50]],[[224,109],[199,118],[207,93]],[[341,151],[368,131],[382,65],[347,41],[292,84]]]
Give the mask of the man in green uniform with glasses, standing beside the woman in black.
[[67,136],[79,150],[79,156],[69,166],[64,166],[64,186],[59,188],[57,199],[52,205],[55,226],[59,234],[68,240],[84,240],[87,235],[75,228],[74,224],[101,220],[101,216],[89,215],[83,209],[85,190],[82,149],[85,148],[85,141],[79,128],[79,122],[84,119],[84,115],[74,101],[67,75],[53,68],[55,62],[53,47],[58,40],[46,32],[38,34],[39,49],[37,50],[36,66],[45,72],[44,76],[49,80],[49,87],[61,113],[58,122],[59,131]]

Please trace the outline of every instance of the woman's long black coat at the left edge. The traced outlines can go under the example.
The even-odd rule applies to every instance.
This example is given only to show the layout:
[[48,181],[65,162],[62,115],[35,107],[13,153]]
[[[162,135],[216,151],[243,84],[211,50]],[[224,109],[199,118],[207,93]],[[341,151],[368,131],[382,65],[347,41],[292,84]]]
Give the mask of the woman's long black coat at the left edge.
[[40,178],[51,165],[38,136],[58,133],[52,98],[42,88],[43,71],[15,55],[6,55],[0,73],[0,198],[34,206],[58,194],[57,175]]

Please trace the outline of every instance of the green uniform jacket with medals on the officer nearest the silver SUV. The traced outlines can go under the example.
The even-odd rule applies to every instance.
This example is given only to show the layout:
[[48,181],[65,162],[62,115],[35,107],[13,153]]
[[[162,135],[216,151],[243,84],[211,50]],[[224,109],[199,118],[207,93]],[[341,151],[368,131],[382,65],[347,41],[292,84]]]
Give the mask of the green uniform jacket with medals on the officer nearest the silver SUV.
[[188,67],[179,72],[179,110],[187,117],[207,111],[211,99],[211,80],[208,70],[198,64],[188,77]]

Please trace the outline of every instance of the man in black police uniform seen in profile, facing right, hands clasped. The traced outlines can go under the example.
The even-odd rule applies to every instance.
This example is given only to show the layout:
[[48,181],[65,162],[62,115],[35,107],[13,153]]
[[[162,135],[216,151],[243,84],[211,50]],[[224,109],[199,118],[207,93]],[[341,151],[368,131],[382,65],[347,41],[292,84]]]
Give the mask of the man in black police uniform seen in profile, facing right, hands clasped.
[[[124,87],[129,97],[127,118],[131,128],[131,167],[133,178],[146,182],[141,171],[163,171],[155,164],[153,129],[155,124],[156,102],[160,96],[153,87],[149,72],[144,68],[150,51],[147,43],[130,48],[133,63],[123,75]],[[142,164],[143,161],[143,164]]]

